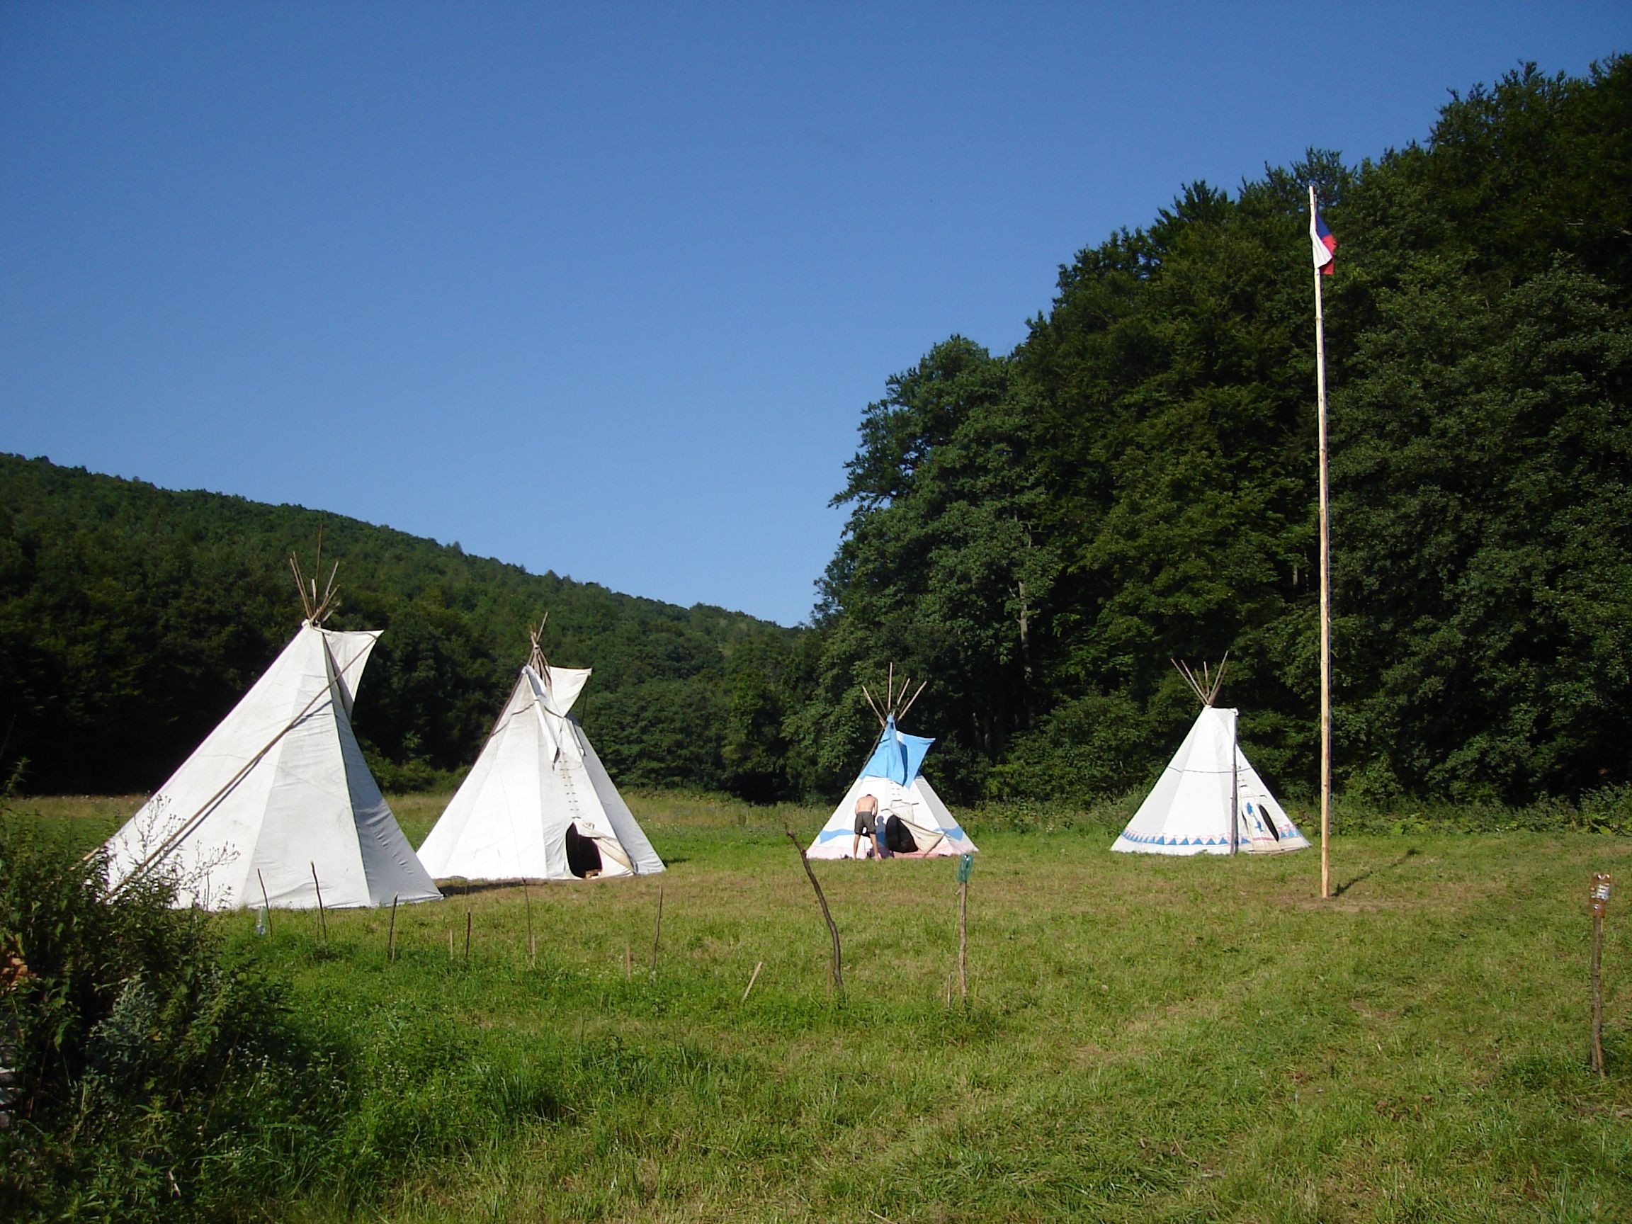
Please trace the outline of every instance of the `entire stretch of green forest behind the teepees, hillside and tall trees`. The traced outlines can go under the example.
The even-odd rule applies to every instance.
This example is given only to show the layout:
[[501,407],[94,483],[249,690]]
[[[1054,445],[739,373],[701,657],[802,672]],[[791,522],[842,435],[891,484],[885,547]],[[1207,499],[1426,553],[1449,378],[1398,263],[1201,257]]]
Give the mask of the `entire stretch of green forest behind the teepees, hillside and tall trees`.
[[473,759],[550,612],[614,775],[836,793],[862,685],[930,679],[955,798],[1142,785],[1222,700],[1271,785],[1317,772],[1314,292],[1325,281],[1335,746],[1353,793],[1528,801],[1632,778],[1632,60],[1452,95],[1376,162],[1185,186],[1059,269],[994,356],[951,336],[862,413],[805,630],[532,576],[299,508],[0,460],[0,765],[149,788],[297,620],[287,553],[388,630],[357,728],[387,785]]

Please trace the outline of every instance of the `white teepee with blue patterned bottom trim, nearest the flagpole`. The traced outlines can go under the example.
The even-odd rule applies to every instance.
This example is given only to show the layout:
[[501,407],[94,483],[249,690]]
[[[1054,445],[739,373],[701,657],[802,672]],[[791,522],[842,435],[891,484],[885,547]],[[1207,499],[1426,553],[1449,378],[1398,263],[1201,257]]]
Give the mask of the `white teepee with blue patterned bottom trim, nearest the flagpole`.
[[1201,713],[1111,849],[1139,854],[1307,849],[1309,840],[1240,751],[1235,739],[1239,712],[1213,705],[1224,682],[1224,664],[1216,676],[1203,666],[1201,677],[1182,663],[1173,666],[1201,698]]

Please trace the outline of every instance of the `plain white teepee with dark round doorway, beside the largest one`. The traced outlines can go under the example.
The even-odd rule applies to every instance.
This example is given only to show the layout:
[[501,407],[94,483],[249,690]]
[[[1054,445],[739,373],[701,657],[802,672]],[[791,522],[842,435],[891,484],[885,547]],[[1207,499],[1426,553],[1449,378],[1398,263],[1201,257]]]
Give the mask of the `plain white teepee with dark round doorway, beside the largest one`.
[[589,667],[532,658],[419,860],[437,880],[651,875],[663,860],[570,716]]

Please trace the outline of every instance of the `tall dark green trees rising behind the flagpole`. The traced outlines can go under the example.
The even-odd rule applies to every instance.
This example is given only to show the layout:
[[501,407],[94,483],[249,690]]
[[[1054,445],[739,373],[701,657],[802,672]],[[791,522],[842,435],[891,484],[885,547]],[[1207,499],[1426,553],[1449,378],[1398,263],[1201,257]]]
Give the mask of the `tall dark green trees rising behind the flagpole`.
[[1009,356],[953,336],[867,408],[827,568],[808,759],[860,677],[935,684],[937,783],[1139,783],[1231,656],[1260,770],[1315,785],[1307,183],[1325,279],[1337,769],[1371,795],[1528,800],[1629,777],[1632,60],[1456,96],[1376,163],[1183,189],[1061,268]]

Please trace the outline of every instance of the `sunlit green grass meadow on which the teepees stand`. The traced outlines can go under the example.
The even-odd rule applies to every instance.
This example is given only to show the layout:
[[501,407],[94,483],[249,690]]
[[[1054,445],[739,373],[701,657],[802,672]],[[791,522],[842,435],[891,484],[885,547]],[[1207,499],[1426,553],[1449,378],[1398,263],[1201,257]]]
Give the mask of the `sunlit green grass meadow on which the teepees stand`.
[[[444,801],[393,801],[415,844]],[[1113,855],[974,821],[968,1007],[955,860],[814,865],[840,1005],[782,832],[823,811],[633,801],[664,875],[455,888],[397,912],[395,961],[388,911],[331,912],[326,940],[317,914],[222,919],[372,1085],[369,1188],[277,1217],[1632,1221],[1624,839],[1340,837],[1320,901],[1319,849]],[[55,809],[90,834],[134,806]],[[1598,870],[1622,881],[1606,1077]]]

